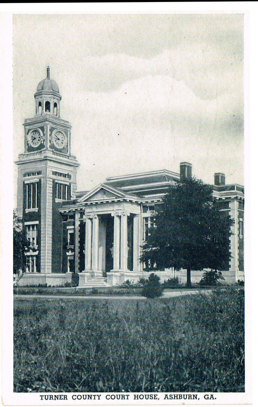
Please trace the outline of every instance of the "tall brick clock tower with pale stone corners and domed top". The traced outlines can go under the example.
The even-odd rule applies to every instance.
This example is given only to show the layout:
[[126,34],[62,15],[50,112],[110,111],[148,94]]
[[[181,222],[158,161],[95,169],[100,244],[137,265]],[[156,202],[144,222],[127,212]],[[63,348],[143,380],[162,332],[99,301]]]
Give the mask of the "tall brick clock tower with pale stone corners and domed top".
[[18,215],[30,242],[23,276],[28,284],[32,279],[36,284],[54,281],[54,275],[60,280],[64,272],[59,209],[75,198],[79,166],[71,155],[71,125],[60,117],[62,97],[49,67],[34,96],[36,114],[24,121],[24,153],[16,161]]

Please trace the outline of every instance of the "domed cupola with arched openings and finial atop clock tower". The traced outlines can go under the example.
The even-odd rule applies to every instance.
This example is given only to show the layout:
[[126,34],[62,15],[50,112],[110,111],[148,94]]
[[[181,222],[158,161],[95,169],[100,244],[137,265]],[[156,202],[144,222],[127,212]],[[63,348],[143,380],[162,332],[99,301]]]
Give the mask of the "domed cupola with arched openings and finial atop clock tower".
[[62,97],[59,93],[58,84],[53,79],[50,79],[49,67],[47,67],[47,77],[39,82],[34,97],[36,99],[36,114],[60,116]]

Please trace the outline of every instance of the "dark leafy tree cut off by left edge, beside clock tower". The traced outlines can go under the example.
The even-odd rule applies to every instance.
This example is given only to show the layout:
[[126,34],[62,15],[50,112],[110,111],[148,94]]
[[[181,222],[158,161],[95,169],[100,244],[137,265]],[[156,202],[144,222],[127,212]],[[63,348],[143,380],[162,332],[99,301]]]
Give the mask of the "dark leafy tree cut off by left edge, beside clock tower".
[[13,272],[19,274],[26,267],[25,251],[30,245],[22,230],[22,222],[15,211],[13,211]]

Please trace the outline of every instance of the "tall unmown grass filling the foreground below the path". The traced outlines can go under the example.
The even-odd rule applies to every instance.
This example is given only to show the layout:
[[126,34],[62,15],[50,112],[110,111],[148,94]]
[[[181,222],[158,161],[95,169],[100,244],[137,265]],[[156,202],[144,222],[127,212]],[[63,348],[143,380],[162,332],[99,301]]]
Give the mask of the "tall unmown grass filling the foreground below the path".
[[14,391],[244,391],[244,291],[15,300]]

